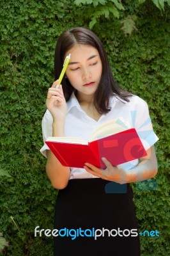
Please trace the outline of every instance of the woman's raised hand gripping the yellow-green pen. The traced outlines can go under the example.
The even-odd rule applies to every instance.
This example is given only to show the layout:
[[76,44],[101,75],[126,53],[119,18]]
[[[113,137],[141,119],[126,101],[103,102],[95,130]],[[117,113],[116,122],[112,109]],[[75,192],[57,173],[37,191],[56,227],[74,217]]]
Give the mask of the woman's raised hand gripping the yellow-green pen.
[[52,87],[49,88],[46,99],[46,106],[49,109],[53,121],[55,120],[65,120],[66,117],[66,100],[63,94],[62,86],[56,88],[58,85],[58,80],[56,80]]

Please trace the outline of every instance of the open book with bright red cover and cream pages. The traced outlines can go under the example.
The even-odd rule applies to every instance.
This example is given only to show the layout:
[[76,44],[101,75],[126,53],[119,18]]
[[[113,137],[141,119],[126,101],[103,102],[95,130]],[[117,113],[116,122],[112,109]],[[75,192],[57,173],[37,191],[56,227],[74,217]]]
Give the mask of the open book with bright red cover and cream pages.
[[63,166],[77,168],[83,168],[84,163],[105,168],[102,157],[116,166],[146,156],[137,132],[121,117],[97,127],[89,141],[73,137],[49,137],[45,143]]

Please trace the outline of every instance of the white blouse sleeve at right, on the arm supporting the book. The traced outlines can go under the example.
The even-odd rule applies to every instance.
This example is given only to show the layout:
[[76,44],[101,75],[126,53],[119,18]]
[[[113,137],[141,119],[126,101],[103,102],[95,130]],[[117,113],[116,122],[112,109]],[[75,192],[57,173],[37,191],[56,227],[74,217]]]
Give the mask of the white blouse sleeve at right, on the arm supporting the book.
[[153,131],[148,104],[139,97],[138,99],[135,108],[136,111],[132,111],[131,114],[132,124],[135,127],[139,138],[141,138],[145,150],[148,150],[148,148],[158,141],[158,137]]

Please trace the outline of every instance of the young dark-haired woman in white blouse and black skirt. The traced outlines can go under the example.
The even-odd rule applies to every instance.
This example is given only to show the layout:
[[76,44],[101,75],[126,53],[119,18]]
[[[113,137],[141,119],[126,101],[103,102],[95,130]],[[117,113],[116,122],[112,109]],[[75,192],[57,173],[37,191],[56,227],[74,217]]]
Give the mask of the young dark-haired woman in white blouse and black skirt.
[[[62,86],[58,77],[71,54]],[[111,73],[97,35],[74,28],[59,36],[55,53],[55,81],[47,93],[43,140],[74,136],[88,140],[95,128],[122,116],[141,134],[146,157],[120,166],[102,158],[105,170],[84,163],[84,168],[62,166],[43,145],[47,175],[59,189],[56,201],[54,255],[140,255],[139,234],[130,182],[157,174],[153,132],[144,100],[121,90]],[[141,133],[140,133],[141,132]],[[102,156],[101,156],[102,157]],[[77,159],[79,156],[77,156]]]

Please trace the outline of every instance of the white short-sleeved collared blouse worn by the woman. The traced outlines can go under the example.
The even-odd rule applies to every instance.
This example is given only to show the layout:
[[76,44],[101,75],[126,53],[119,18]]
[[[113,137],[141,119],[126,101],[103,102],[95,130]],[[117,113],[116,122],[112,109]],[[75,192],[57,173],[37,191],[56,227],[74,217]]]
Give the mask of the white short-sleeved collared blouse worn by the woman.
[[[109,113],[100,116],[98,121],[88,116],[81,108],[74,93],[72,93],[67,104],[67,115],[65,121],[65,136],[68,137],[79,137],[84,140],[88,140],[91,133],[101,124],[105,122],[123,117],[137,131],[137,134],[141,138],[145,150],[150,148],[157,140],[157,135],[153,132],[151,119],[148,111],[148,105],[146,102],[133,95],[129,97],[129,102],[119,99],[118,97],[112,96],[109,99],[109,106],[111,111]],[[52,136],[52,115],[47,109],[42,120],[42,132],[44,145],[40,149],[43,156],[47,157],[47,150],[49,147],[45,144],[45,140],[49,136]],[[79,157],[79,156],[77,156]],[[121,164],[126,170],[134,168],[139,161],[133,160],[128,163]],[[70,168],[70,179],[87,179],[97,178],[91,173],[86,172],[84,168]]]

